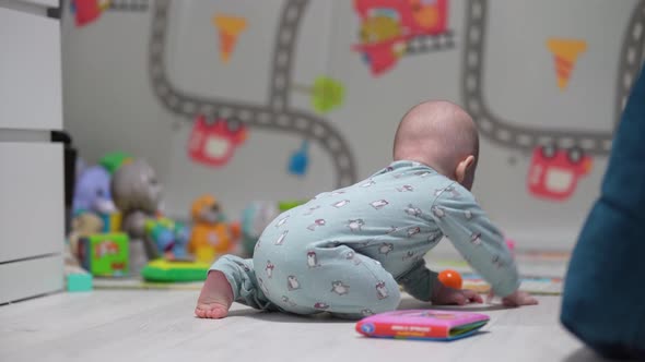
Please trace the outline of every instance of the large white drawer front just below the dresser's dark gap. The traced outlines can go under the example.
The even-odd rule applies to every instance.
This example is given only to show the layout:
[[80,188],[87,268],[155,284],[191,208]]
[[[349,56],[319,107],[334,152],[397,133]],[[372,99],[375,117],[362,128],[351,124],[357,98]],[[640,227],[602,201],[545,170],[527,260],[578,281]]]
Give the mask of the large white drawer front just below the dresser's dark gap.
[[62,145],[0,142],[0,263],[63,244]]

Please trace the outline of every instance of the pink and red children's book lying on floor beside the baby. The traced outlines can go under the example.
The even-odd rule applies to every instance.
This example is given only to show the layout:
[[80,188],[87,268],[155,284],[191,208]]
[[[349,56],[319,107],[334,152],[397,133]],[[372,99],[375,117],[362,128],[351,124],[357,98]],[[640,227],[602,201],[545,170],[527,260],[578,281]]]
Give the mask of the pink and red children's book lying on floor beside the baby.
[[408,310],[375,314],[356,323],[367,337],[455,340],[478,331],[489,316],[466,311]]

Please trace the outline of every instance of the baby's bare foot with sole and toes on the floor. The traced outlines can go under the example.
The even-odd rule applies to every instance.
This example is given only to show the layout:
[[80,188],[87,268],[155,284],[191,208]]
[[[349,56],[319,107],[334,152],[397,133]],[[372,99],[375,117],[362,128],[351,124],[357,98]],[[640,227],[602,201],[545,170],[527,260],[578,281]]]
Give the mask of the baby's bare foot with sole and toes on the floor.
[[233,304],[233,290],[222,272],[213,270],[201,288],[195,315],[200,318],[223,318]]

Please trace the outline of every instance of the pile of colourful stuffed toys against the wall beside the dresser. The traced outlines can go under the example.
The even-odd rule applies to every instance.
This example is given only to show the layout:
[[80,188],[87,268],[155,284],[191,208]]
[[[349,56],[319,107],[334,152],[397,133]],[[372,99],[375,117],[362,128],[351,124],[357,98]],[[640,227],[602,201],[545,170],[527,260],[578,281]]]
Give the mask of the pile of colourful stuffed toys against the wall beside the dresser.
[[94,166],[79,161],[78,170],[68,245],[94,275],[120,276],[124,263],[137,273],[160,258],[212,263],[225,253],[245,254],[243,244],[253,246],[248,239],[258,222],[246,222],[247,242],[241,243],[241,222],[227,222],[212,195],[194,202],[189,226],[165,217],[162,183],[142,158],[116,152]]

